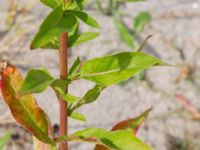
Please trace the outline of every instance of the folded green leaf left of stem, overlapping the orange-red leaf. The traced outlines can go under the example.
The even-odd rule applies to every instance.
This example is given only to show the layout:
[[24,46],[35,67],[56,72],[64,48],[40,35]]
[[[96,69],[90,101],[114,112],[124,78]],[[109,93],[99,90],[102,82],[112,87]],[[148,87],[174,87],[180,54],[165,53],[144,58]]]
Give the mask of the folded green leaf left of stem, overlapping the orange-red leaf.
[[41,93],[54,82],[46,69],[31,69],[19,90],[19,96],[30,93]]

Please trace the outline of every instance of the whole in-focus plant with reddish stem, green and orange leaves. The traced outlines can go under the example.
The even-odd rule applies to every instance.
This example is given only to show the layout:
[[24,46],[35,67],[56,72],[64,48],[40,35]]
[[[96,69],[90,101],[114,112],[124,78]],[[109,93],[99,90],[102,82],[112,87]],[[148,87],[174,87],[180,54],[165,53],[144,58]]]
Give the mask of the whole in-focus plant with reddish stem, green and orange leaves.
[[[163,66],[166,63],[140,52],[144,42],[136,52],[124,51],[85,62],[81,62],[78,57],[68,70],[68,48],[99,35],[96,32],[80,33],[79,21],[97,29],[100,26],[83,11],[84,0],[41,0],[41,2],[52,11],[34,37],[31,49],[59,49],[60,78],[54,78],[47,69],[30,69],[25,80],[13,65],[4,64],[1,70],[1,88],[5,102],[16,121],[32,133],[35,149],[55,150],[59,143],[60,150],[66,150],[68,142],[77,141],[94,143],[95,150],[150,150],[151,148],[143,143],[136,133],[151,109],[138,117],[121,121],[111,131],[88,128],[69,134],[67,118],[85,121],[85,116],[80,114],[78,109],[96,101],[107,87],[129,79],[142,70],[152,66]],[[79,79],[94,83],[94,87],[82,97],[72,95],[68,91],[68,85]],[[53,89],[60,103],[59,136],[55,136],[49,117],[32,96],[33,93],[41,93],[48,87]]]

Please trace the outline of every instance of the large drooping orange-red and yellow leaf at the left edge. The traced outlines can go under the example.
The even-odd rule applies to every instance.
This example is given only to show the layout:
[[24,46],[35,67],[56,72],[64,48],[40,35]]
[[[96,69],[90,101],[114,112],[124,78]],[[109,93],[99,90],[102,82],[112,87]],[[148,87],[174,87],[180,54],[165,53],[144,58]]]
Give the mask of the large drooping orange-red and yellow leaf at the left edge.
[[15,120],[40,141],[54,144],[48,136],[48,120],[32,95],[17,97],[23,83],[19,71],[12,65],[2,69],[2,95]]

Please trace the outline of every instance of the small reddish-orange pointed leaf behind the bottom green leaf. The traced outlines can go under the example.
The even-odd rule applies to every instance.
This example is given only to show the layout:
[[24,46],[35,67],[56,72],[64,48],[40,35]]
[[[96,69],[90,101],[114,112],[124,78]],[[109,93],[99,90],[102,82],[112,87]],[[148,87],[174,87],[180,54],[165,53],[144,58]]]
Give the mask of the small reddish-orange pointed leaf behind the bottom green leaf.
[[[149,108],[136,118],[126,119],[124,121],[119,122],[118,124],[113,126],[112,131],[132,130],[133,134],[136,135],[141,124],[145,121],[145,119],[147,118],[147,116],[151,110],[152,110],[152,108]],[[107,148],[103,145],[96,145],[94,150],[109,150],[109,148]]]

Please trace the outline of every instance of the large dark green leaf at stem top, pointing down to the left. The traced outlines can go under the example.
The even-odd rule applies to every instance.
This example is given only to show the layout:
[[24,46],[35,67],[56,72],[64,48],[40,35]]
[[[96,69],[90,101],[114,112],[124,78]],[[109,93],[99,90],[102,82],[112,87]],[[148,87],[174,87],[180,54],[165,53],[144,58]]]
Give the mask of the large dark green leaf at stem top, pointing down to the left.
[[63,32],[70,32],[77,24],[72,14],[64,14],[62,6],[57,6],[44,20],[39,32],[31,43],[31,49],[46,47],[46,44],[58,38]]

